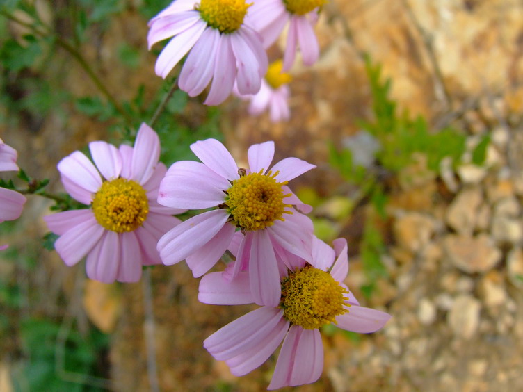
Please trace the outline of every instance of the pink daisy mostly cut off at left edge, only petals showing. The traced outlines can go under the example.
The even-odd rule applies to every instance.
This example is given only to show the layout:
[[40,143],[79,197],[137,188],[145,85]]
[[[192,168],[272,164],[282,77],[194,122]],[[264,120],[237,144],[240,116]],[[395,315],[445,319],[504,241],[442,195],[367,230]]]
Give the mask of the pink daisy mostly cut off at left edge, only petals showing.
[[[13,147],[6,145],[0,139],[0,172],[17,172],[18,154]],[[0,188],[0,223],[5,220],[15,220],[22,215],[26,197],[15,190]]]

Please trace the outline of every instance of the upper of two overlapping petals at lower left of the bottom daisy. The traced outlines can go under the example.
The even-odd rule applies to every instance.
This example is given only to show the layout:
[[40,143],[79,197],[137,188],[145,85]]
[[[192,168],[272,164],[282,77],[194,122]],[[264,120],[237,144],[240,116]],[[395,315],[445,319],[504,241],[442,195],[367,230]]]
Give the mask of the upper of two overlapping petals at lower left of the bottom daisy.
[[[218,361],[232,359],[277,333],[282,327],[283,311],[261,307],[218,329],[204,340],[203,346]],[[285,322],[289,325],[288,322]]]

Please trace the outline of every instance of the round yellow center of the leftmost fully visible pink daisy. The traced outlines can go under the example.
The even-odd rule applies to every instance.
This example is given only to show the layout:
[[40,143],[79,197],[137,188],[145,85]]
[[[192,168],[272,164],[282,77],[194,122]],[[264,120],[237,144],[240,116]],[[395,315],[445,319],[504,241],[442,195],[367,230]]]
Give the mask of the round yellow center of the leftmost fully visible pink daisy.
[[149,212],[145,190],[127,179],[104,181],[92,200],[98,223],[107,230],[123,233],[138,229]]

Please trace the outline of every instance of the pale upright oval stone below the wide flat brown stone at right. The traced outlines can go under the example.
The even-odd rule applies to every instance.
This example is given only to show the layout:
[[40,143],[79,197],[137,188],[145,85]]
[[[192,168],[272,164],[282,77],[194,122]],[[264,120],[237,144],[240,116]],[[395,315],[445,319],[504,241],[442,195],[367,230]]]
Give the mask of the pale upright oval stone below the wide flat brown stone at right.
[[460,295],[454,300],[447,322],[454,335],[470,339],[478,329],[481,303],[471,295]]

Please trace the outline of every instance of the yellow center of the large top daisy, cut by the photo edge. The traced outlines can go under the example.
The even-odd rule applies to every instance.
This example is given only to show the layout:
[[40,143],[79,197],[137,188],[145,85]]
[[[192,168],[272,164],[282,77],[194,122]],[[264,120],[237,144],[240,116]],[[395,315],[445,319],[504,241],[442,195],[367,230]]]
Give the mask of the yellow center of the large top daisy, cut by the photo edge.
[[240,28],[250,6],[245,0],[200,0],[196,9],[209,26],[232,33]]

